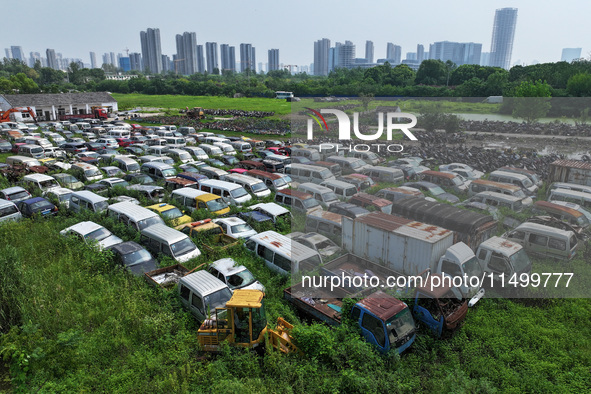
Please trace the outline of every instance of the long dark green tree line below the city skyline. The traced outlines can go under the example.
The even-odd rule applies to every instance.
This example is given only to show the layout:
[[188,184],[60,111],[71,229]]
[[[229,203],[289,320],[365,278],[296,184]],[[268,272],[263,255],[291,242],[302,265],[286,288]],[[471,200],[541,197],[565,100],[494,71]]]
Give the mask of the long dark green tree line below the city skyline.
[[[114,71],[114,70],[108,70]],[[103,69],[81,68],[72,63],[67,71],[28,67],[17,59],[0,62],[0,93],[58,93],[71,91],[109,91],[115,93],[211,95],[233,97],[236,94],[273,97],[278,90],[296,96],[376,97],[487,97],[512,96],[522,83],[546,84],[552,97],[591,96],[591,61],[556,62],[514,66],[510,70],[479,65],[456,66],[452,62],[425,60],[417,71],[405,64],[389,63],[362,69],[339,68],[328,76],[306,73],[292,75],[287,70],[268,73],[218,74],[190,76],[174,72],[145,75],[130,71],[129,80],[110,80]]]

